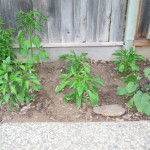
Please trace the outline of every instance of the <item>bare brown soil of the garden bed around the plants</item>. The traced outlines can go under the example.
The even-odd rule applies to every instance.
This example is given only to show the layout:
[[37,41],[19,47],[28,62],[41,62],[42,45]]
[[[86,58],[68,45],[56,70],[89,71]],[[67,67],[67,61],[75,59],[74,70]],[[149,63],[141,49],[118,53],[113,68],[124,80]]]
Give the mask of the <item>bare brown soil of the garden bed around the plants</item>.
[[[5,105],[0,106],[1,122],[81,122],[81,121],[124,121],[124,120],[148,120],[149,117],[138,113],[135,108],[128,109],[125,97],[117,96],[116,89],[122,85],[119,81],[120,75],[114,71],[113,62],[92,61],[92,74],[99,76],[106,87],[99,87],[99,105],[120,104],[126,108],[126,113],[120,117],[103,117],[92,111],[91,105],[82,104],[78,109],[74,103],[64,102],[61,93],[55,94],[55,88],[59,84],[58,75],[65,68],[65,62],[49,62],[36,66],[43,89],[36,93],[36,98],[28,105],[22,105],[19,111],[8,111]],[[150,62],[139,63],[141,71],[150,66]]]

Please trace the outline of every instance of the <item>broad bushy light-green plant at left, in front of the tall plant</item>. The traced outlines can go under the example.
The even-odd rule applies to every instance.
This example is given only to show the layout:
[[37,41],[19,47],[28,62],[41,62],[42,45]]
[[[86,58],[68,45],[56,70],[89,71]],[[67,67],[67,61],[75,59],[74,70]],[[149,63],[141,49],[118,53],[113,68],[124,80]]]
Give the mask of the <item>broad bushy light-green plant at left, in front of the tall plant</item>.
[[35,96],[33,91],[41,88],[38,76],[31,64],[14,61],[10,57],[0,66],[0,104],[19,108],[19,104],[29,103]]

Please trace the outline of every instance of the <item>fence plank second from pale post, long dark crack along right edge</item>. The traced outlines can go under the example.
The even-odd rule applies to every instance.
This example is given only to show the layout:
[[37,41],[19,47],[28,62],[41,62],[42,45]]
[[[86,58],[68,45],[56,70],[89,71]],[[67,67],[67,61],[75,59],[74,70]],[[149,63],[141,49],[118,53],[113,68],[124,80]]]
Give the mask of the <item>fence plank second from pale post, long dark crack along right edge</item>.
[[97,42],[108,42],[111,19],[111,0],[100,0],[97,17]]

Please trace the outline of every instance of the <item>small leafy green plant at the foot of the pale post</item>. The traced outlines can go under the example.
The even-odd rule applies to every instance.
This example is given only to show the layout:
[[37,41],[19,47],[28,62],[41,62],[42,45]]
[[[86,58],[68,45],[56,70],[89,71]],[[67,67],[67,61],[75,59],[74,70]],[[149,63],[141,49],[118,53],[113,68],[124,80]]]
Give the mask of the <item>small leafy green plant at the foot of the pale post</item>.
[[139,70],[136,64],[137,60],[144,60],[144,57],[138,55],[133,48],[129,50],[116,50],[113,55],[117,56],[113,61],[116,63],[115,70],[125,75]]

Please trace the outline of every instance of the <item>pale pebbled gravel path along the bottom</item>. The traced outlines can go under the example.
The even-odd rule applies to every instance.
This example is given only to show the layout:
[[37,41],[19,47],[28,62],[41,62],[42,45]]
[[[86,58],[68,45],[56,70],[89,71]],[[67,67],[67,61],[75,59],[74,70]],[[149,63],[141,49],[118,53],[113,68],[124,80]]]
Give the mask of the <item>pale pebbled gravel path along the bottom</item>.
[[150,122],[5,123],[0,150],[150,150]]

